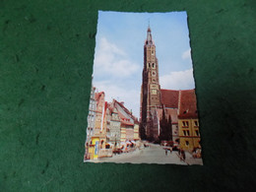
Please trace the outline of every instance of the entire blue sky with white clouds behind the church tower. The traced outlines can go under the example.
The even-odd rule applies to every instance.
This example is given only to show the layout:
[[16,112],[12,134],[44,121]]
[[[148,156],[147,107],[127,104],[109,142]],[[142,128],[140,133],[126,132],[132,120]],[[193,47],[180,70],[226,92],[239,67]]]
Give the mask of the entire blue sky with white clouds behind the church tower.
[[186,12],[99,11],[93,84],[107,101],[124,101],[137,117],[149,23],[159,59],[160,88],[195,88]]

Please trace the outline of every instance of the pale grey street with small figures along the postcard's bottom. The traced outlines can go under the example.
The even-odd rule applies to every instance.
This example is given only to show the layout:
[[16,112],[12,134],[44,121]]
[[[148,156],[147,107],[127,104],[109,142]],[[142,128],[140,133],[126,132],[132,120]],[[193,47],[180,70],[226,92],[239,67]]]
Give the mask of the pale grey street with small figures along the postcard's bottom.
[[159,163],[159,164],[203,164],[202,159],[193,159],[189,153],[186,153],[186,161],[180,160],[178,152],[167,152],[160,145],[150,144],[149,148],[137,149],[134,152],[113,155],[112,158],[102,158],[99,160],[88,160],[91,162],[130,162],[130,163]]

